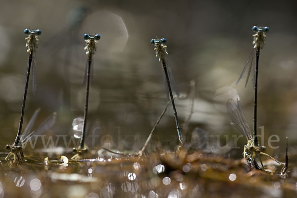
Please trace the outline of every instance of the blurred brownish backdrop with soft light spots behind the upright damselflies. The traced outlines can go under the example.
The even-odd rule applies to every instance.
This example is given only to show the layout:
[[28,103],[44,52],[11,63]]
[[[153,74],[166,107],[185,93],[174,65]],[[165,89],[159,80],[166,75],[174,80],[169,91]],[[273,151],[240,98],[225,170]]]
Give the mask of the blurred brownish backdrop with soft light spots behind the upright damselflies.
[[[82,85],[86,54],[83,34],[98,33],[94,78],[89,99],[89,131],[96,128],[100,148],[140,149],[167,101],[162,68],[150,40],[166,38],[166,57],[181,95],[196,81],[194,113],[187,141],[199,127],[209,141],[234,145],[240,135],[230,124],[225,101],[213,100],[218,89],[237,89],[252,128],[253,87],[244,81],[235,87],[252,49],[253,25],[269,26],[260,53],[258,126],[264,126],[264,145],[270,135],[280,142],[271,154],[283,154],[296,145],[297,119],[297,1],[232,0],[13,0],[0,6],[0,149],[15,139],[23,99],[28,53],[25,28],[41,29],[36,53],[37,92],[32,83],[25,109],[25,125],[41,107],[36,127],[51,112],[58,121],[50,135],[73,136],[72,121],[84,113]],[[176,100],[180,122],[187,118],[191,101]],[[197,131],[197,130],[196,130]],[[220,136],[217,136],[220,135]],[[229,135],[226,139],[224,135]],[[218,139],[216,137],[219,137]],[[177,143],[172,107],[169,106],[154,140]],[[232,143],[233,142],[233,143]],[[238,146],[243,148],[241,138]],[[62,146],[63,142],[58,142]],[[70,144],[70,147],[72,145]],[[269,149],[269,148],[268,148]],[[242,149],[231,150],[241,157]]]

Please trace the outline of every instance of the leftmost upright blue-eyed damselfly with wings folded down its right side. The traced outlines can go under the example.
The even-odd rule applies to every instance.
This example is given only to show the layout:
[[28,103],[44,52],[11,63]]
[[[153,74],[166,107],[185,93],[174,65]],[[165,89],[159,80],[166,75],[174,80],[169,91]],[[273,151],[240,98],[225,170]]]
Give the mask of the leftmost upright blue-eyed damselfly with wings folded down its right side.
[[13,146],[19,146],[21,133],[22,133],[22,126],[23,126],[23,120],[24,120],[24,113],[25,113],[25,105],[26,105],[26,98],[27,98],[27,91],[28,91],[28,84],[29,84],[29,77],[30,77],[30,70],[32,65],[32,73],[33,73],[33,93],[36,90],[36,78],[35,78],[35,52],[38,45],[38,36],[41,35],[41,30],[29,30],[25,29],[24,33],[28,35],[28,37],[25,38],[26,40],[26,48],[27,52],[29,53],[29,60],[27,63],[27,72],[26,72],[26,80],[25,80],[25,87],[24,87],[24,98],[22,103],[22,109],[21,109],[21,119],[19,123],[19,128],[17,132],[16,139],[14,141]]

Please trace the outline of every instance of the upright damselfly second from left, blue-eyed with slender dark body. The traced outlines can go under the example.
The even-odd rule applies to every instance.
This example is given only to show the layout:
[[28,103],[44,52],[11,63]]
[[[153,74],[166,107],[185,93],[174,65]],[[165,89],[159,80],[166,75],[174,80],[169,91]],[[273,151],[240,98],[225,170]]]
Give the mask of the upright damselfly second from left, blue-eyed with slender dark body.
[[90,78],[91,78],[91,65],[92,65],[92,56],[95,54],[97,50],[97,43],[100,39],[100,35],[89,35],[84,34],[84,39],[86,42],[85,50],[86,54],[88,55],[87,64],[86,64],[86,71],[85,76],[86,79],[86,96],[85,96],[85,112],[84,112],[84,119],[83,119],[83,129],[82,129],[82,137],[80,140],[80,145],[78,148],[73,148],[73,151],[76,154],[71,159],[80,159],[82,154],[88,151],[88,148],[85,147],[85,136],[87,130],[87,117],[88,117],[88,106],[89,106],[89,90],[90,90]]

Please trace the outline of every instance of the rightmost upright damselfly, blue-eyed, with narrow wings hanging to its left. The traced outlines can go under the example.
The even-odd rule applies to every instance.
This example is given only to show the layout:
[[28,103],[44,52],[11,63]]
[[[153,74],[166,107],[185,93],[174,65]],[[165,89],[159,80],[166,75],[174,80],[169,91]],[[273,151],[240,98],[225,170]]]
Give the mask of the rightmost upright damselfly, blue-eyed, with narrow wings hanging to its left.
[[[255,146],[258,146],[258,139],[257,139],[257,93],[258,93],[258,70],[259,70],[259,55],[260,55],[260,49],[263,49],[264,45],[265,45],[265,38],[266,38],[266,33],[269,32],[269,27],[257,27],[257,26],[253,26],[252,27],[252,31],[255,32],[253,36],[253,49],[250,52],[248,58],[247,58],[247,62],[244,66],[244,69],[239,77],[239,79],[237,80],[237,83],[239,83],[239,81],[242,79],[246,69],[247,69],[247,65],[249,64],[248,67],[248,72],[247,72],[247,80],[246,80],[246,86],[247,86],[247,82],[250,76],[250,72],[251,72],[251,68],[253,67],[254,61],[255,61],[255,68],[254,68],[254,118],[253,118],[253,144]],[[256,58],[254,58],[254,56],[256,55]],[[256,59],[256,60],[255,60]],[[250,62],[250,63],[249,63]]]

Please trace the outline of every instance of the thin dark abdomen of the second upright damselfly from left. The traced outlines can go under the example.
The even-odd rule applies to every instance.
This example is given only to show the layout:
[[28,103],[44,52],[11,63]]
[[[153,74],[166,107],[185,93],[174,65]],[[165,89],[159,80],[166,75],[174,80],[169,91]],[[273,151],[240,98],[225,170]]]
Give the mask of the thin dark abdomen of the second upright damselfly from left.
[[86,135],[86,130],[87,130],[87,116],[88,116],[88,106],[89,106],[91,62],[92,62],[92,58],[89,58],[88,59],[88,71],[87,71],[86,98],[85,98],[84,126],[83,126],[82,138],[81,138],[81,142],[80,142],[80,148],[85,147],[85,135]]

